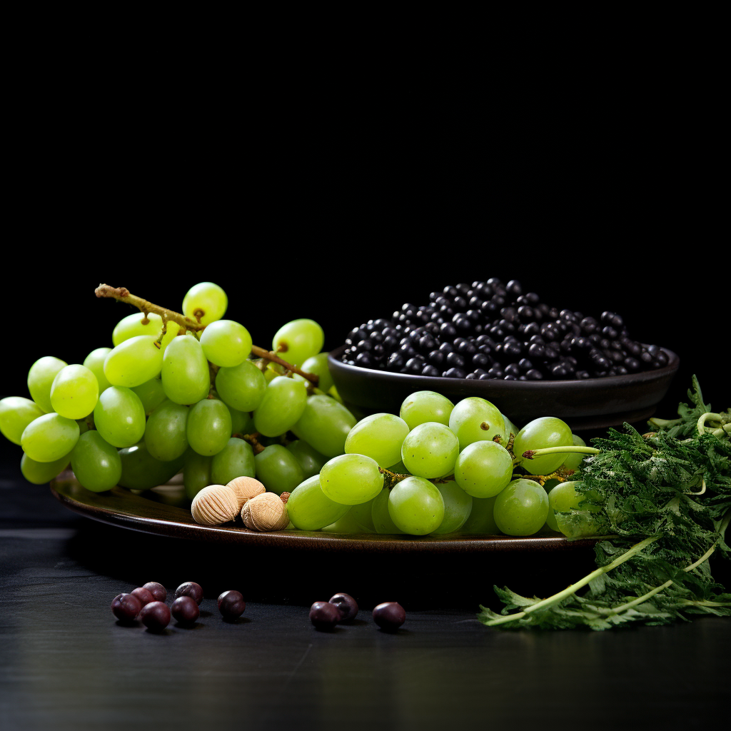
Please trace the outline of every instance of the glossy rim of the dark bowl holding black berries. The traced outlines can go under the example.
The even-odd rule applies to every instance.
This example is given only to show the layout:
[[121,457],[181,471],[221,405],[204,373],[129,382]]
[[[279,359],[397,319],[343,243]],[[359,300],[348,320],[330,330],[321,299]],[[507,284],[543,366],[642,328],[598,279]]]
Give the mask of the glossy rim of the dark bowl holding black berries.
[[[643,343],[643,345],[645,345]],[[501,387],[505,388],[512,388],[515,390],[539,390],[541,388],[544,388],[547,385],[550,385],[552,387],[558,387],[560,386],[562,389],[566,388],[567,390],[580,390],[583,388],[586,388],[586,385],[588,384],[602,384],[606,385],[607,387],[611,386],[623,386],[627,385],[629,382],[643,382],[648,383],[655,380],[662,379],[664,376],[670,376],[675,373],[675,371],[678,370],[678,367],[680,366],[681,359],[678,357],[678,354],[670,350],[669,348],[664,348],[660,346],[660,349],[662,352],[664,352],[668,357],[668,363],[667,366],[662,366],[662,368],[654,368],[652,371],[637,371],[637,373],[628,373],[624,376],[604,376],[603,378],[586,378],[581,379],[580,381],[577,379],[561,379],[561,380],[548,380],[548,379],[541,379],[539,381],[506,381],[504,379],[483,379],[482,381],[480,379],[466,379],[466,378],[446,378],[444,376],[420,376],[417,374],[410,374],[410,373],[393,373],[393,371],[381,371],[377,368],[363,368],[363,366],[350,366],[348,363],[343,363],[342,360],[338,360],[338,357],[343,354],[343,352],[346,349],[346,345],[343,344],[341,346],[338,346],[336,349],[331,350],[327,354],[327,362],[330,366],[333,366],[334,368],[340,368],[341,370],[348,371],[351,374],[354,375],[371,375],[374,376],[376,379],[397,379],[401,380],[404,383],[423,383],[424,385],[431,384],[436,385],[437,383],[444,383],[444,382],[453,382],[453,383],[461,383],[465,381],[474,381],[476,383],[490,383],[493,385],[500,384]],[[439,389],[420,389],[420,390],[439,390]]]

